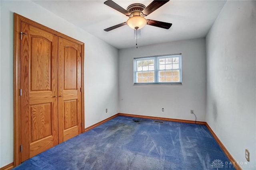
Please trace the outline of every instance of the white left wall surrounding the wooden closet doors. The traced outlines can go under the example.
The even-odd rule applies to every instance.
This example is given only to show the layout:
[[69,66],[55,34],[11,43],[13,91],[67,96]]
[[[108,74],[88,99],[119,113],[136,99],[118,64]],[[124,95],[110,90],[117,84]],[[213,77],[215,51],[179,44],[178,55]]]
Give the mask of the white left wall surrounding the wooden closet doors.
[[118,50],[32,1],[0,1],[0,4],[2,167],[13,162],[13,12],[85,43],[86,127],[118,113]]

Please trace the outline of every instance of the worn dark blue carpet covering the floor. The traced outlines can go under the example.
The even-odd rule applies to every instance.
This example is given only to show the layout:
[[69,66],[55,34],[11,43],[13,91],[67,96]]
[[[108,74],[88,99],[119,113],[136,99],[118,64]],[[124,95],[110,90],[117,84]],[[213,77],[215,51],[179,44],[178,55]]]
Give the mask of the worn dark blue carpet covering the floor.
[[228,158],[205,125],[118,116],[14,170],[235,169],[225,162]]

